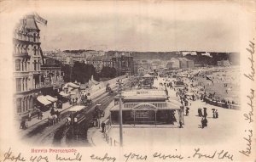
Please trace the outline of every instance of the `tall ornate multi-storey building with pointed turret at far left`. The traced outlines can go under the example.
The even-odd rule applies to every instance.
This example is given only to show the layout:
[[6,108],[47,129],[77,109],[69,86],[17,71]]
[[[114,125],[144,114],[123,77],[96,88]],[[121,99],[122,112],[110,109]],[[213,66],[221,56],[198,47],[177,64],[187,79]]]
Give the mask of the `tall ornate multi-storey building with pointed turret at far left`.
[[26,15],[15,26],[13,45],[15,112],[16,115],[26,115],[33,109],[35,94],[44,87],[41,84],[43,53],[35,15]]

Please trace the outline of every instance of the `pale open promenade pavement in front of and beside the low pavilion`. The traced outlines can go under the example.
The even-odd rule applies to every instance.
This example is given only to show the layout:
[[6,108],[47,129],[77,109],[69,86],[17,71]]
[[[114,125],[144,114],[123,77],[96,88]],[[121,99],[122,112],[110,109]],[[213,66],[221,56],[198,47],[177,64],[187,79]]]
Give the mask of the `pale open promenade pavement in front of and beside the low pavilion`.
[[[159,83],[162,78],[154,80],[154,87],[160,87]],[[176,97],[176,92],[171,88],[167,88],[169,96]],[[108,118],[109,109],[113,105],[110,104],[106,109],[105,120]],[[201,128],[201,117],[198,116],[198,108],[207,108],[208,126]],[[236,124],[234,119],[241,112],[235,109],[224,109],[217,106],[209,105],[201,100],[189,101],[189,115],[184,116],[183,128],[178,128],[178,124],[163,126],[163,125],[124,125],[123,137],[124,146],[139,145],[204,145],[204,144],[219,144],[232,140],[232,135],[236,134]],[[212,109],[218,109],[218,119],[212,118]],[[176,116],[177,117],[177,116]],[[109,138],[119,142],[119,125],[113,125],[108,131]],[[93,146],[111,146],[106,142],[106,135],[101,129],[91,128],[88,131],[88,140]],[[164,137],[164,138],[163,138]]]

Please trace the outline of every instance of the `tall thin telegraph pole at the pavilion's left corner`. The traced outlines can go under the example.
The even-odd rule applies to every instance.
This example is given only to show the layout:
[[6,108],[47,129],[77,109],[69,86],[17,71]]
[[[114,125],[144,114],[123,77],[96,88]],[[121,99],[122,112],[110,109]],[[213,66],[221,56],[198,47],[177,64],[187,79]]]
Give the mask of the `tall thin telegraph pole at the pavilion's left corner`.
[[119,137],[120,147],[123,147],[123,115],[122,115],[122,81],[118,81],[119,85]]

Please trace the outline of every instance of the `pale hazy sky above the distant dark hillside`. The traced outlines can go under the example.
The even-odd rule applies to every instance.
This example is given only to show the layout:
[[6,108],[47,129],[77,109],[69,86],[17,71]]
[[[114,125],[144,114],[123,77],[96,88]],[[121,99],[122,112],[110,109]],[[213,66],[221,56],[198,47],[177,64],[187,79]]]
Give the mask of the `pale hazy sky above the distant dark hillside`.
[[38,14],[41,47],[140,52],[239,51],[238,6],[230,3],[101,3]]

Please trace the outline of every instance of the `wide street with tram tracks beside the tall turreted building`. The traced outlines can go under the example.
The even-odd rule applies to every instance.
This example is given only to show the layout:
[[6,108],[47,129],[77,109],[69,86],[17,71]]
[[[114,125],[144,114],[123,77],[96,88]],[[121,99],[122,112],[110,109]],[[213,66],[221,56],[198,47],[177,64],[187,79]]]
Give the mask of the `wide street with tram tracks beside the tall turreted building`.
[[[90,106],[86,107],[84,114],[84,120],[79,123],[79,126],[76,127],[76,134],[73,135],[73,126],[65,126],[65,119],[67,115],[70,115],[67,108],[61,112],[61,121],[56,123],[53,126],[49,126],[48,120],[44,119],[33,126],[29,127],[26,130],[20,131],[22,138],[25,139],[24,142],[32,143],[35,145],[55,145],[55,146],[67,146],[67,144],[72,145],[72,142],[68,142],[73,137],[76,136],[76,139],[81,142],[83,145],[90,145],[86,142],[87,129],[89,127],[90,121],[92,119],[92,112],[97,103],[102,104],[102,109],[108,106],[108,104],[113,100],[113,97],[116,93],[108,94],[104,92],[100,96],[93,99],[93,103]],[[79,136],[79,137],[78,137]],[[84,142],[82,142],[84,140]]]

